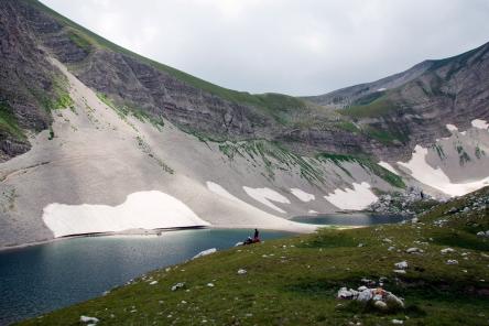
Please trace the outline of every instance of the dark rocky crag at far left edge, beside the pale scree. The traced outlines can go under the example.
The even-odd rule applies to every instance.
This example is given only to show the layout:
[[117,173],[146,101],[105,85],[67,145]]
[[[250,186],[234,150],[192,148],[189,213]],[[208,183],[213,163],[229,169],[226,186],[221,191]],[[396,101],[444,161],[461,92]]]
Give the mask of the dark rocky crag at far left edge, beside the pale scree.
[[[20,19],[14,1],[0,2],[0,160],[29,150],[26,131],[46,129],[51,115],[43,100],[54,97],[54,74],[31,37],[35,26]],[[45,97],[45,98],[44,98]]]

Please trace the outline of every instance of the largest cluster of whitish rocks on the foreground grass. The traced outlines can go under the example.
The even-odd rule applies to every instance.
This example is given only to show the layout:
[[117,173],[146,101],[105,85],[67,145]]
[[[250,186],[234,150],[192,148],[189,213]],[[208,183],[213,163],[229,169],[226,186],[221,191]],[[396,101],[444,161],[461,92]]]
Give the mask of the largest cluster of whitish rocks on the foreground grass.
[[402,298],[395,296],[382,287],[360,286],[358,290],[341,287],[338,291],[337,298],[356,300],[365,304],[371,304],[374,308],[387,312],[404,308]]

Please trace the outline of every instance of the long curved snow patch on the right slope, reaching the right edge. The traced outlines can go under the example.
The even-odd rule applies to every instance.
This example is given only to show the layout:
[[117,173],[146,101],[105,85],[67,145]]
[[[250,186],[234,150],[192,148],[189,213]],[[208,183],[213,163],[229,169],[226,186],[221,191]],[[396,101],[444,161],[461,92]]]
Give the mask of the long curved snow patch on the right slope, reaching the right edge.
[[426,162],[427,153],[427,149],[416,145],[411,160],[408,163],[398,162],[398,164],[408,167],[411,171],[411,176],[419,182],[450,196],[463,196],[489,185],[489,177],[469,183],[452,183],[442,169],[434,169]]

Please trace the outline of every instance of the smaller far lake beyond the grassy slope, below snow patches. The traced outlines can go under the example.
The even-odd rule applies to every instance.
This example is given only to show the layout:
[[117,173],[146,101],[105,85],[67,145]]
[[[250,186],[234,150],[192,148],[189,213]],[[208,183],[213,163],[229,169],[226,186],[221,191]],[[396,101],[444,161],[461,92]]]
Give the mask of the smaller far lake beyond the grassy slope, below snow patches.
[[337,225],[337,226],[371,226],[380,224],[395,224],[410,218],[405,215],[381,215],[363,213],[339,213],[339,214],[319,214],[315,216],[297,216],[291,220],[314,224],[314,225]]

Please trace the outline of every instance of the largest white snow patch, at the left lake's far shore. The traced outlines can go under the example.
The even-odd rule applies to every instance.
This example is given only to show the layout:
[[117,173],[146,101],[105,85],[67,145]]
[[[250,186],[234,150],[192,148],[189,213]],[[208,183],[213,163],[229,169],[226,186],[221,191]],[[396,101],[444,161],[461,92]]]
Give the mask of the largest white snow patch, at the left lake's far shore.
[[181,200],[157,191],[130,194],[118,206],[50,204],[43,209],[43,220],[56,238],[135,228],[209,225]]

